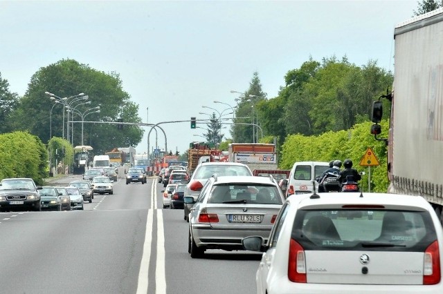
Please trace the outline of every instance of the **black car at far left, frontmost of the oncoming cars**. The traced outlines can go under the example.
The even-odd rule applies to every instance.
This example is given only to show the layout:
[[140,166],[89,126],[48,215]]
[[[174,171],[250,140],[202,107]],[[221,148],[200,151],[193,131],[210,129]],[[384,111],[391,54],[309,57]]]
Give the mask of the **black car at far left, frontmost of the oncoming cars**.
[[40,205],[41,186],[30,178],[2,179],[0,182],[0,211],[42,210]]

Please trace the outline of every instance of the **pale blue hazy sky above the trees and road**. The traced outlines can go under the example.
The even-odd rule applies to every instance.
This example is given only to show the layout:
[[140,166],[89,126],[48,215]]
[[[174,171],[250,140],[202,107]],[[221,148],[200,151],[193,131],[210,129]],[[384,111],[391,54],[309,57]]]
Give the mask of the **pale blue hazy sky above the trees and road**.
[[[310,57],[372,60],[393,71],[394,28],[417,8],[417,0],[0,0],[0,72],[22,96],[40,68],[75,59],[117,72],[143,122],[208,119],[232,112],[240,94],[230,91],[248,90],[254,72],[268,99],[276,97],[284,75]],[[165,135],[151,132],[150,153],[166,144],[183,153],[206,133],[189,121],[159,126]],[[137,153],[147,152],[149,130]]]

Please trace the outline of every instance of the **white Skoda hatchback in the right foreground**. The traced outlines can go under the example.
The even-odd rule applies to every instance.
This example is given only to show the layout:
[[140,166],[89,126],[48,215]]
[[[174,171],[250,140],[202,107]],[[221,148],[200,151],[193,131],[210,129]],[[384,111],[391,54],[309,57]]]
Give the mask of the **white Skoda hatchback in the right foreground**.
[[422,197],[292,195],[262,251],[257,293],[443,293],[443,229]]

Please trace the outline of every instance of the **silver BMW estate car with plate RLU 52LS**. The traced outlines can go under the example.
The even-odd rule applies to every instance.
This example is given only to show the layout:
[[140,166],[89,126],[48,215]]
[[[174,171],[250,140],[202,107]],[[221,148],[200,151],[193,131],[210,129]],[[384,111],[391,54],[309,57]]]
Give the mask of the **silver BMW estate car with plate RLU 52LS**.
[[189,215],[188,251],[201,257],[206,249],[243,250],[242,238],[261,236],[266,241],[283,202],[271,177],[210,177],[194,200]]

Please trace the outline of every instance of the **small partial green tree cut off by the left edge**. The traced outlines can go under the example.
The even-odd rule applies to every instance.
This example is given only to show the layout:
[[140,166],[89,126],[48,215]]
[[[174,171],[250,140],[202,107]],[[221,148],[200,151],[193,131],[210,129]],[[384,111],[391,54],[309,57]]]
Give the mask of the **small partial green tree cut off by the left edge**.
[[7,79],[2,79],[0,72],[0,133],[12,131],[11,113],[17,107],[17,93],[11,93]]

